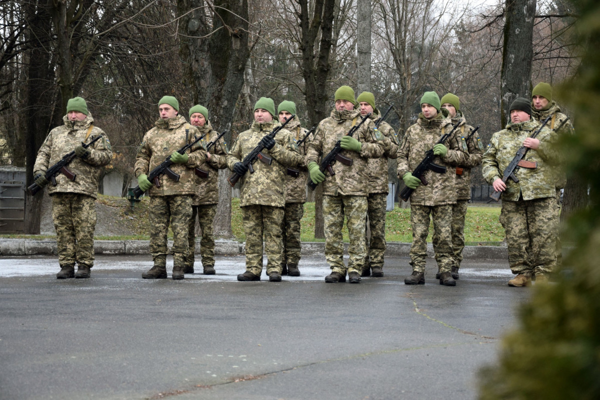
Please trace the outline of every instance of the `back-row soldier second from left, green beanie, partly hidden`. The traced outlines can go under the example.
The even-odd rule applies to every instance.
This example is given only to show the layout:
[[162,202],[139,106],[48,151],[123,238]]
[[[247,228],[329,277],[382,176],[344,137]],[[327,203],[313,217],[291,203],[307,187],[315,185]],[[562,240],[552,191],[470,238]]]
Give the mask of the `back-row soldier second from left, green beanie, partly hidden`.
[[[279,121],[281,124],[287,121],[292,115],[296,114],[296,104],[293,101],[282,101],[277,107]],[[286,129],[292,133],[295,143],[304,138],[308,130],[300,126],[298,119],[293,119],[286,125]],[[294,169],[298,170],[298,176],[292,176],[289,173],[286,176],[286,207],[284,210],[283,223],[281,224],[281,233],[283,235],[283,261],[281,264],[281,275],[300,276],[298,263],[300,262],[300,252],[302,242],[300,240],[300,220],[304,215],[304,203],[306,203],[306,183],[308,170],[304,164],[304,156],[308,149],[308,137],[300,146],[298,152],[302,161]]]

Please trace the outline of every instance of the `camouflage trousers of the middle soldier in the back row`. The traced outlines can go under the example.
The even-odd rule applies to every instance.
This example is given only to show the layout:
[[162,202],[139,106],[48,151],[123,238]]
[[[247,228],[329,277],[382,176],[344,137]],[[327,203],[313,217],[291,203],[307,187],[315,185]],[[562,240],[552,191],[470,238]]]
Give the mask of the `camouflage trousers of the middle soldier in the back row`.
[[383,254],[386,247],[385,216],[388,207],[387,197],[388,195],[385,193],[371,193],[367,197],[367,215],[371,230],[371,239],[367,240],[367,265],[371,268],[383,267]]

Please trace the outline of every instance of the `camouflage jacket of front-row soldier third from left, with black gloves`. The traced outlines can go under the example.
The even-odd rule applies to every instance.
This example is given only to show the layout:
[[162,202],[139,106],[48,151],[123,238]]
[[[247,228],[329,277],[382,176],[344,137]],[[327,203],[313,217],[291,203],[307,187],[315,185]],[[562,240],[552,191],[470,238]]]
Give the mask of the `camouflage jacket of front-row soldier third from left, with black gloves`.
[[[239,134],[227,154],[227,166],[233,171],[233,166],[250,154],[258,146],[260,139],[277,127],[279,122],[272,121],[265,124],[253,122],[252,127]],[[286,125],[287,126],[287,125]],[[262,161],[253,164],[254,173],[246,172],[239,179],[241,207],[251,204],[263,206],[284,207],[285,183],[287,167],[295,167],[302,163],[292,134],[282,129],[275,136],[275,146],[271,150],[264,149],[263,154],[273,158],[271,165]]]

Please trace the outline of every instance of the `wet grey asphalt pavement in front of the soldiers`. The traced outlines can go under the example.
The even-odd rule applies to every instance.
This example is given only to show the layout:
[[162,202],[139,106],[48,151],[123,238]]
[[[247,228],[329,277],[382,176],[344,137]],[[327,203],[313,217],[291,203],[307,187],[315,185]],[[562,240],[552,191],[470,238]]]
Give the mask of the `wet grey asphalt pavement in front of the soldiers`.
[[97,255],[59,280],[56,257],[0,259],[0,399],[475,399],[532,291],[506,260],[464,260],[456,287],[431,258],[417,286],[408,257],[361,284],[326,284],[317,256],[283,282],[236,281],[243,256],[183,281],[169,262],[153,281],[149,256]]

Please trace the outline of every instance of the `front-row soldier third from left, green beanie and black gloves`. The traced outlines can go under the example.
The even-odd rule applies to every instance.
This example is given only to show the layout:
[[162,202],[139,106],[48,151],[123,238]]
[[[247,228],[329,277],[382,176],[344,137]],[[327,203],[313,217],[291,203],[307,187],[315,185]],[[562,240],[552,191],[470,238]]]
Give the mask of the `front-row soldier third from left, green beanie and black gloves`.
[[[229,154],[229,169],[241,176],[240,207],[246,234],[246,272],[238,275],[238,281],[260,281],[263,265],[263,236],[267,255],[266,272],[270,282],[281,281],[283,221],[286,167],[302,163],[292,133],[282,129],[275,138],[268,134],[277,127],[273,100],[261,97],[254,105],[252,127],[239,134]],[[287,125],[286,125],[287,126]],[[254,173],[241,160],[256,148],[265,146],[263,154],[272,158],[272,163],[256,161]]]

